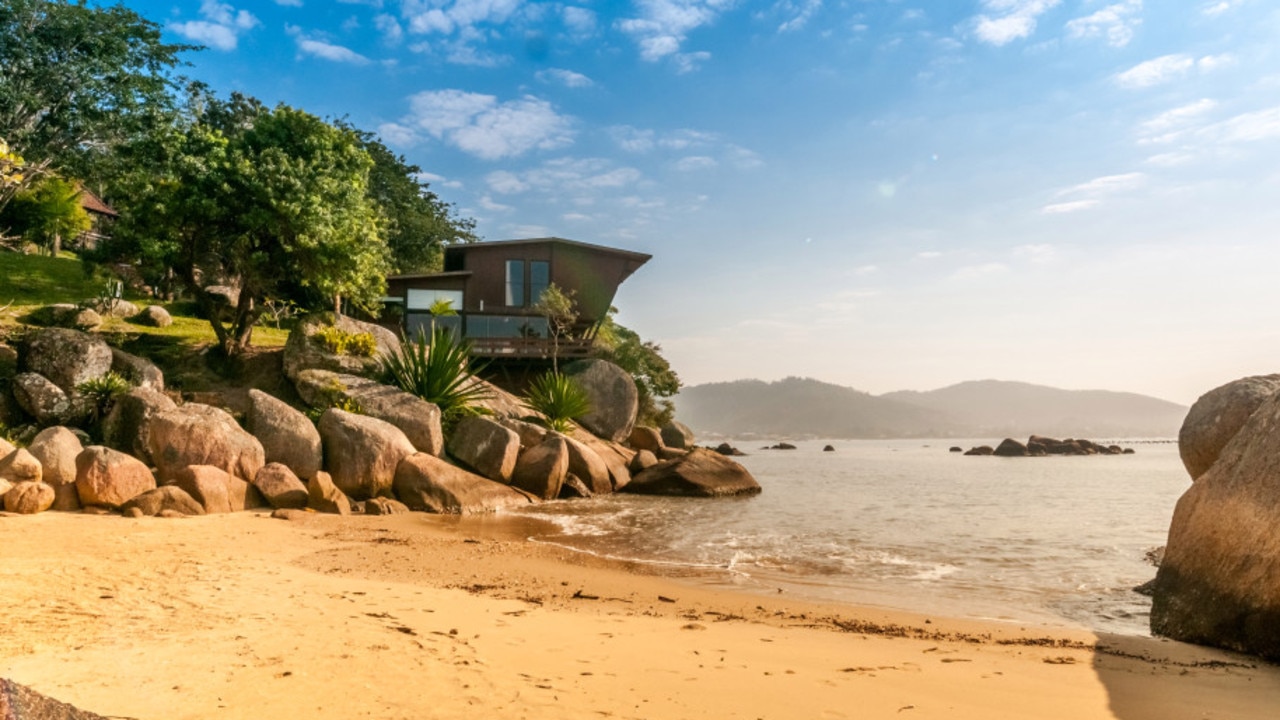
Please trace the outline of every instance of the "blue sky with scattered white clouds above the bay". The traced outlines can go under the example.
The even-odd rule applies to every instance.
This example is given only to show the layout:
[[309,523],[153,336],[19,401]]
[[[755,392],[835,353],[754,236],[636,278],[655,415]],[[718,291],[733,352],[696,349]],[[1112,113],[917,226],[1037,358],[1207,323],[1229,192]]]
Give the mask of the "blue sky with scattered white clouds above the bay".
[[1280,372],[1270,0],[125,4],[486,240],[652,254],[618,319],[686,384]]

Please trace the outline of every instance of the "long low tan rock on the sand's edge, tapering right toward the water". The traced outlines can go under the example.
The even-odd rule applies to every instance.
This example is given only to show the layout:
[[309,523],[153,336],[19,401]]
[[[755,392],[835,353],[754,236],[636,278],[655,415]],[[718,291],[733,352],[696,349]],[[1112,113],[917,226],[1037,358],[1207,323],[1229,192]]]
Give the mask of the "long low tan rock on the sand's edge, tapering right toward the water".
[[411,510],[471,515],[529,505],[532,500],[516,488],[495,483],[416,452],[396,469],[396,497]]

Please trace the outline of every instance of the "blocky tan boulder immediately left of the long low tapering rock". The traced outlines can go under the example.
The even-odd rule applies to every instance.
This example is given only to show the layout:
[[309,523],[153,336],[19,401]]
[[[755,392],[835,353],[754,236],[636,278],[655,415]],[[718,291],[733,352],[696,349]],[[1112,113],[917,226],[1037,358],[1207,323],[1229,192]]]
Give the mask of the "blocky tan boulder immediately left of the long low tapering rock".
[[320,416],[325,466],[353,500],[388,495],[401,460],[416,452],[396,425],[330,407]]

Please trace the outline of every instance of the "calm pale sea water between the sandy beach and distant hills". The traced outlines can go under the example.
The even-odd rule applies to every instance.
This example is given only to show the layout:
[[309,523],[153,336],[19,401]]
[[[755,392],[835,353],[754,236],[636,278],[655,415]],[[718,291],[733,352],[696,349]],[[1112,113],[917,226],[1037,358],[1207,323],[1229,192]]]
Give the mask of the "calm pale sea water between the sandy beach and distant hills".
[[[534,539],[705,570],[744,591],[952,616],[1147,634],[1155,577],[1190,480],[1174,443],[1135,455],[964,457],[982,441],[808,441],[737,460],[764,492],[686,500],[630,495],[526,514]],[[836,452],[822,452],[824,445]]]

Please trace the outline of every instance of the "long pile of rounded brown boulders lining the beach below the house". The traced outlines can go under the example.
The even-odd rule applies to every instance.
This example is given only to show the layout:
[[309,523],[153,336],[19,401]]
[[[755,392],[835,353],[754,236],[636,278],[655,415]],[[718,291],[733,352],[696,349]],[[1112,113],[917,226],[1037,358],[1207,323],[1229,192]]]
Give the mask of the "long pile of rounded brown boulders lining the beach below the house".
[[[374,334],[379,352],[398,348],[384,328],[340,322]],[[180,402],[164,392],[155,365],[90,333],[45,328],[20,348],[0,345],[0,379],[42,428],[27,447],[0,441],[0,505],[17,514],[86,509],[129,516],[255,507],[471,514],[618,491],[760,491],[741,465],[694,448],[692,433],[678,423],[636,427],[635,387],[627,392],[618,379],[630,377],[602,360],[575,370],[596,409],[591,432],[548,430],[529,420],[518,398],[489,386],[483,414],[445,433],[435,405],[370,379],[364,359],[326,354],[307,336],[315,327],[300,324],[284,356],[298,395],[323,409],[315,423],[257,389],[248,391],[243,425],[221,407]],[[97,427],[101,441],[92,443],[77,428],[90,415],[77,388],[113,369],[137,387],[113,402]]]

